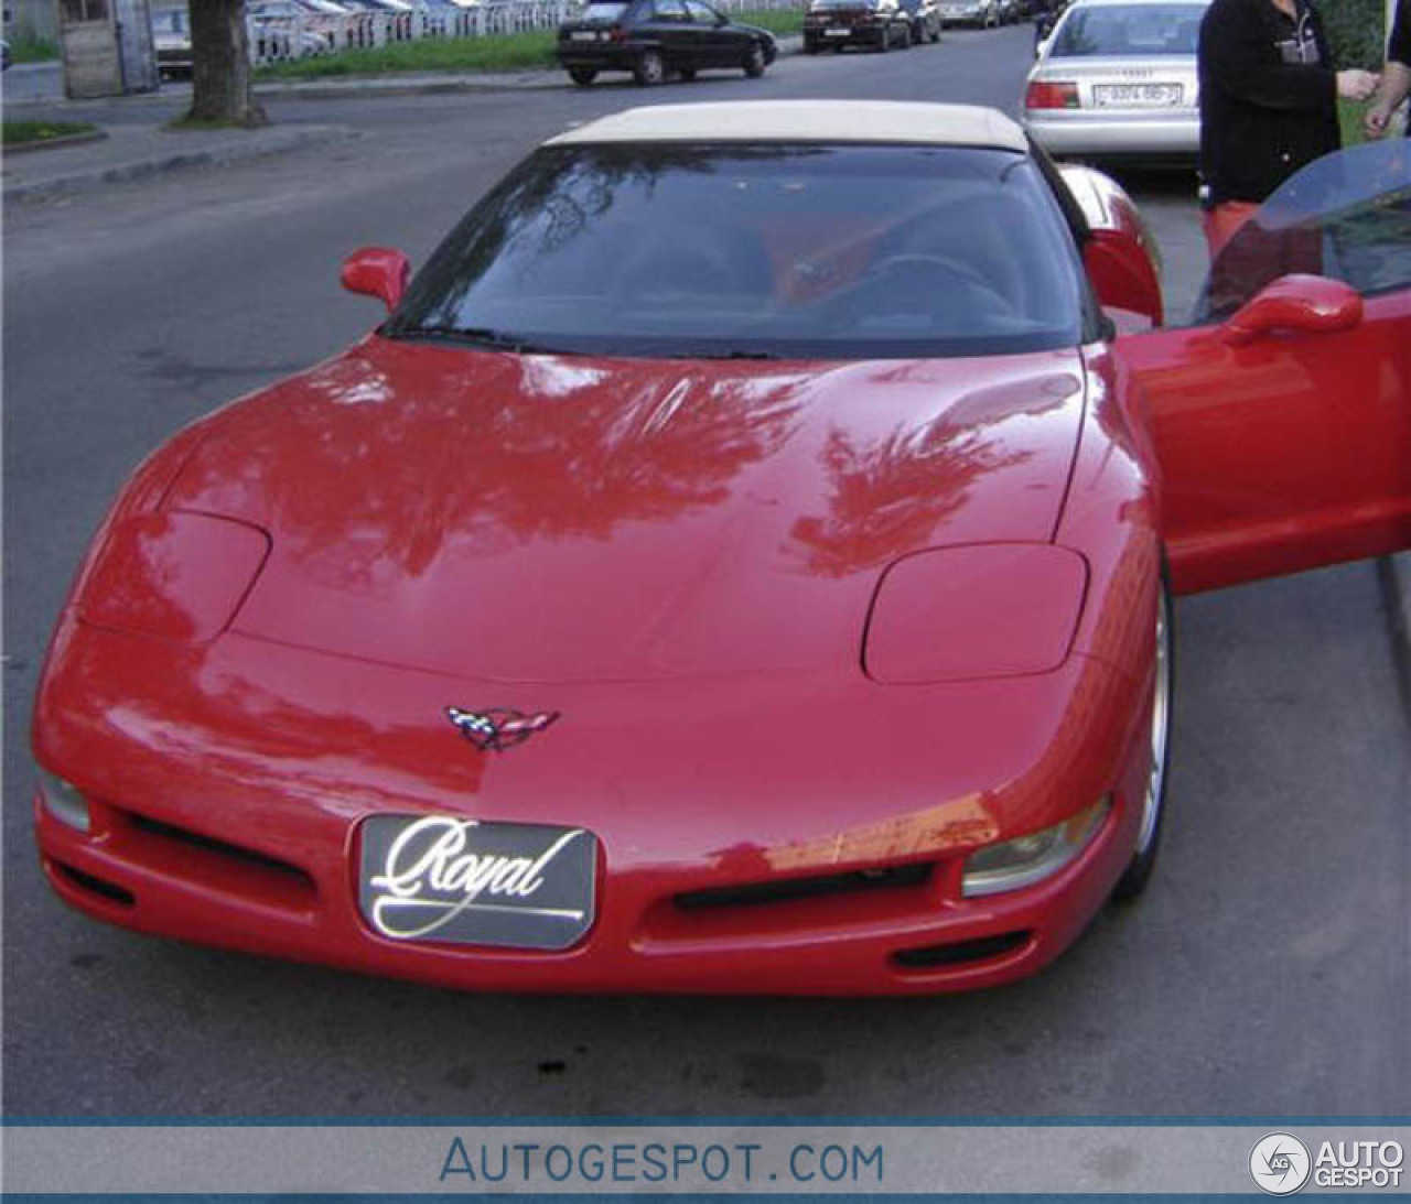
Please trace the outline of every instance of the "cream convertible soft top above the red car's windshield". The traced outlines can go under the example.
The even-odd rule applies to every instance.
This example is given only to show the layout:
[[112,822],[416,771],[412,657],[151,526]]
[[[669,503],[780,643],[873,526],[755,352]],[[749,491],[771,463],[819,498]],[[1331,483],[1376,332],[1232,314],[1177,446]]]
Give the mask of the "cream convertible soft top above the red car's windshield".
[[914,142],[1027,151],[995,109],[893,100],[739,100],[628,109],[546,145],[580,142]]

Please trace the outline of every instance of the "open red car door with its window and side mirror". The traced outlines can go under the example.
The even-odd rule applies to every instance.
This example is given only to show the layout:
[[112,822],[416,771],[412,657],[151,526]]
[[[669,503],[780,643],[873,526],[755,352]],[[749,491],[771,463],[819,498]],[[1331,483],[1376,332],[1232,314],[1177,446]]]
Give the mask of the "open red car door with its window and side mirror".
[[1411,145],[1311,164],[1194,324],[1116,340],[1177,592],[1411,547]]

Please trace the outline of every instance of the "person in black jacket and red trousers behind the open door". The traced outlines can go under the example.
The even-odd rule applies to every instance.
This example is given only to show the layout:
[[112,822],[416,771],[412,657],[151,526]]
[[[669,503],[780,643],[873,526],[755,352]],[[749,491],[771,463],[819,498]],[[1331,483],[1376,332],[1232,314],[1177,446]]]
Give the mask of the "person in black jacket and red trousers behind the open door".
[[1342,145],[1338,97],[1367,70],[1333,70],[1308,0],[1213,0],[1201,21],[1201,207],[1211,258],[1285,179]]

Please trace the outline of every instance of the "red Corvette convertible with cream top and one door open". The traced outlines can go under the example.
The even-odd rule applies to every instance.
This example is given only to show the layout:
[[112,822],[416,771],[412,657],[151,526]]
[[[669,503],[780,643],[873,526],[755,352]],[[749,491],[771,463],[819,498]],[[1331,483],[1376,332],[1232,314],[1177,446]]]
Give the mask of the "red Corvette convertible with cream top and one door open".
[[1151,873],[1170,594],[1411,544],[1408,164],[1309,169],[1167,330],[1127,197],[992,111],[553,138],[133,475],[40,688],[54,888],[456,987],[1033,973]]

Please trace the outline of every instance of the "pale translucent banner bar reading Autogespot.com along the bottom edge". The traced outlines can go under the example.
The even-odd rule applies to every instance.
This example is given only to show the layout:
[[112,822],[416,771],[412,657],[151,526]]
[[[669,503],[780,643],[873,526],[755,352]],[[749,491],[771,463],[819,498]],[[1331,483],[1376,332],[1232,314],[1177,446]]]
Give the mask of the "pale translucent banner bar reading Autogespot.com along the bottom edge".
[[[1411,1125],[49,1125],[6,1193],[1411,1193]],[[1295,1186],[1297,1184],[1297,1186]]]

